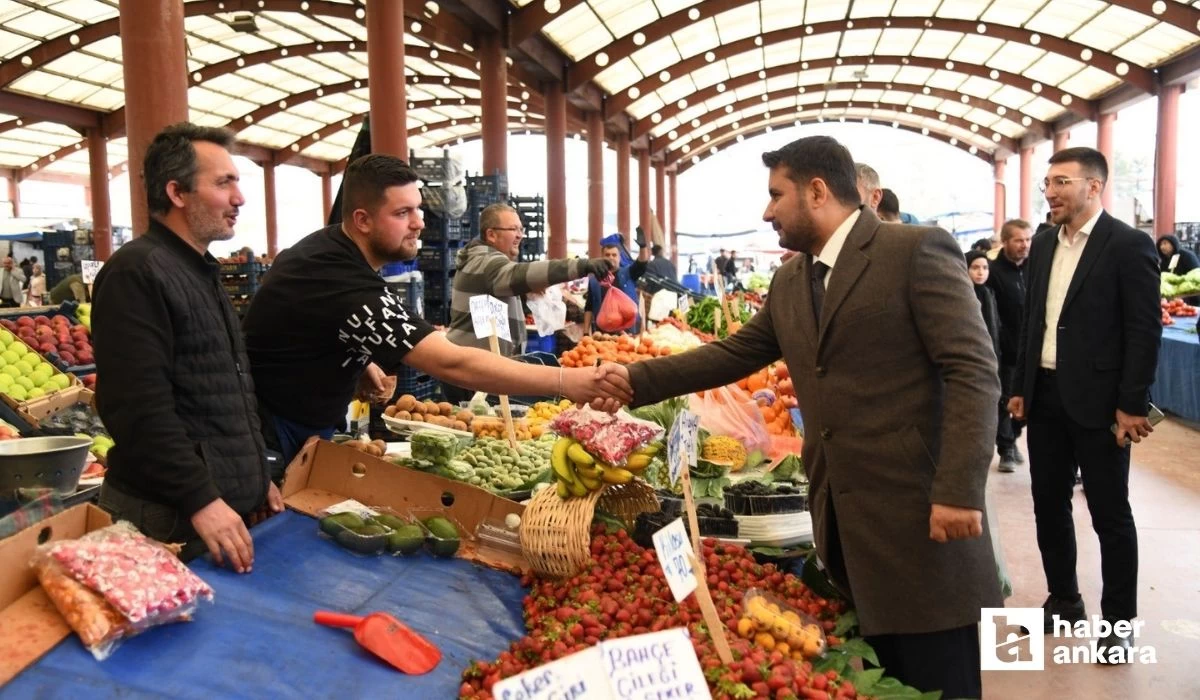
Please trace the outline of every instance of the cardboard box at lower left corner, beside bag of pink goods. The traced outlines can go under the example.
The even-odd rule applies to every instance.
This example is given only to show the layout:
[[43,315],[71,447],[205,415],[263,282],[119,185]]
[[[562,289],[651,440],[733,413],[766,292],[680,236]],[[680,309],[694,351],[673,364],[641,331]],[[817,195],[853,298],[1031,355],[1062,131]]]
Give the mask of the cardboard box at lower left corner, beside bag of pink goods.
[[84,503],[0,540],[0,686],[72,634],[29,567],[37,545],[112,523],[107,513]]

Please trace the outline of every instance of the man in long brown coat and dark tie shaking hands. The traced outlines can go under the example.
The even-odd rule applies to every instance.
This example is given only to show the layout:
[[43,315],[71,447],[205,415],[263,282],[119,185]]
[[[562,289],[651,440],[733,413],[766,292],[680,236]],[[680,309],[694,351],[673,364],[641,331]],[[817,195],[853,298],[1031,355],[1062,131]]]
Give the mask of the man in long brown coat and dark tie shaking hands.
[[832,138],[763,162],[763,219],[806,255],[775,273],[736,335],[630,365],[634,402],[727,384],[784,357],[804,415],[817,552],[863,634],[889,675],[979,698],[979,609],[1002,605],[983,516],[1000,381],[962,253],[944,231],[864,209],[854,161]]

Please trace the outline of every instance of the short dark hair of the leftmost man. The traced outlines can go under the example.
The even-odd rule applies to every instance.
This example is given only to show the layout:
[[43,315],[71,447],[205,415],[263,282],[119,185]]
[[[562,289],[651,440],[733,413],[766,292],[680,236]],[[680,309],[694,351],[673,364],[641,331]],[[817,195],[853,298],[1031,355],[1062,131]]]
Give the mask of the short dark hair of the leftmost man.
[[179,189],[191,192],[196,187],[196,146],[198,140],[215,143],[233,150],[238,138],[228,128],[198,126],[180,121],[155,134],[142,160],[142,180],[146,187],[146,209],[160,216],[174,205],[167,195],[167,184],[179,183]]

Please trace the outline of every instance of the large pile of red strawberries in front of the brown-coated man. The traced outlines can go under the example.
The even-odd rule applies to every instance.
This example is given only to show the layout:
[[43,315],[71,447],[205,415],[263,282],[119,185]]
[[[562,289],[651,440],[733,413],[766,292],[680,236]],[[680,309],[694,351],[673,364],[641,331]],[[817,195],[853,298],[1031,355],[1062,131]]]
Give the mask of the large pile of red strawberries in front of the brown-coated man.
[[814,672],[808,660],[785,658],[766,651],[737,634],[743,592],[757,587],[774,593],[788,605],[817,620],[830,645],[841,641],[832,633],[842,611],[840,602],[815,594],[799,579],[774,564],[760,566],[743,548],[703,540],[708,587],[734,662],[721,664],[700,612],[695,596],[676,603],[654,550],[634,543],[625,531],[596,532],[592,539],[592,566],[562,581],[526,576],[524,599],[528,634],[500,653],[496,662],[473,663],[463,672],[458,696],[492,698],[500,680],[588,648],[602,640],[686,627],[708,678],[713,698],[857,698],[854,686],[835,670]]

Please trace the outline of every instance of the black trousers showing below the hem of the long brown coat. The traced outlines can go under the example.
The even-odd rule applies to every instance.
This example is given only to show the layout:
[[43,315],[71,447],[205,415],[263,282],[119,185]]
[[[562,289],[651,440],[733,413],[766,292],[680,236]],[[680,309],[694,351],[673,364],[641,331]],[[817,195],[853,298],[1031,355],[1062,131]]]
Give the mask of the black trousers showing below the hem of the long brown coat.
[[968,624],[924,634],[881,634],[866,642],[887,669],[906,686],[942,698],[982,698],[979,626]]

